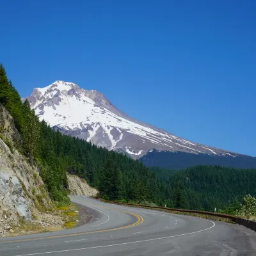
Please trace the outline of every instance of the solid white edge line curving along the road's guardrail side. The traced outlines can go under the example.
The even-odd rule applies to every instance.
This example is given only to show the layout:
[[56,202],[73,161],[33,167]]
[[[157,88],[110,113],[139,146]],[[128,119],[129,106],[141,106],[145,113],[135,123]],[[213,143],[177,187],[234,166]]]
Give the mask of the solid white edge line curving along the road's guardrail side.
[[[200,219],[200,218],[198,218],[198,219]],[[204,219],[200,219],[200,220],[204,220]],[[211,227],[209,227],[209,228],[205,228],[205,229],[202,229],[202,230],[198,230],[198,231],[191,232],[191,233],[186,233],[186,234],[180,234],[180,235],[175,235],[175,236],[159,237],[159,238],[153,238],[153,239],[147,239],[147,240],[141,240],[141,241],[134,241],[134,242],[128,242],[128,243],[121,243],[121,244],[108,244],[108,245],[102,245],[102,246],[93,246],[93,247],[70,249],[70,250],[62,250],[62,251],[55,251],[55,252],[30,253],[30,254],[22,254],[22,255],[15,255],[15,256],[31,256],[31,255],[51,254],[51,253],[58,253],[58,252],[74,252],[74,251],[97,249],[97,248],[104,248],[104,247],[111,247],[111,246],[118,246],[118,245],[125,245],[125,244],[143,243],[143,242],[156,241],[156,240],[167,239],[167,238],[172,238],[172,237],[186,236],[186,235],[190,235],[190,234],[195,234],[195,233],[203,232],[205,230],[209,230],[209,229],[211,229],[211,228],[213,228],[215,226],[215,223],[212,222],[211,220],[205,220],[205,221],[209,221],[213,225]]]

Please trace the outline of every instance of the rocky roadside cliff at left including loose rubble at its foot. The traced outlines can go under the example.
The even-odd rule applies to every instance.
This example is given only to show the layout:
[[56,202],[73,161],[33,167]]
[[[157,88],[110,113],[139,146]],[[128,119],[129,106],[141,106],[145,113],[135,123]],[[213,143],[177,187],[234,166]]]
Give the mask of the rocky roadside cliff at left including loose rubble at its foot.
[[38,175],[17,150],[22,145],[10,113],[0,103],[0,236],[61,229],[64,219]]

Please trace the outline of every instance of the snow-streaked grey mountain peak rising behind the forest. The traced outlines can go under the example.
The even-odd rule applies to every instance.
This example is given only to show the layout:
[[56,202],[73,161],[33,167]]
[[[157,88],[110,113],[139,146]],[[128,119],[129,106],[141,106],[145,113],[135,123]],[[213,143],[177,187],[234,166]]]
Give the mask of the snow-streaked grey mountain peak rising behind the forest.
[[102,93],[77,84],[56,81],[35,88],[28,97],[40,120],[52,127],[91,141],[93,144],[129,154],[138,159],[153,149],[159,151],[233,156],[238,154],[178,138],[144,124],[115,108]]

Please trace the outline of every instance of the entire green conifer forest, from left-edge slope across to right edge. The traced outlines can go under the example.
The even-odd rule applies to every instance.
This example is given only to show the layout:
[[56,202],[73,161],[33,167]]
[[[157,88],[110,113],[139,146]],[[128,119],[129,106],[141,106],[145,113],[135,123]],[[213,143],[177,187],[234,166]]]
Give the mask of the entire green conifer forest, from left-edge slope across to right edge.
[[109,200],[147,202],[185,209],[217,211],[228,201],[256,195],[256,170],[220,166],[196,166],[186,170],[150,170],[123,154],[97,147],[79,138],[61,134],[40,122],[28,100],[6,77],[0,65],[0,103],[15,120],[22,143],[14,145],[38,165],[51,198],[68,204],[66,173],[76,174],[99,189]]

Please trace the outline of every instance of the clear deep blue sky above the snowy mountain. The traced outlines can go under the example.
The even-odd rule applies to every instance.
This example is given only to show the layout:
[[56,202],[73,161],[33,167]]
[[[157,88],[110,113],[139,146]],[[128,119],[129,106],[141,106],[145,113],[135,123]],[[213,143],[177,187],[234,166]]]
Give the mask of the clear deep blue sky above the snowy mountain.
[[256,156],[256,1],[1,3],[22,97],[70,81],[182,138]]

